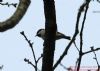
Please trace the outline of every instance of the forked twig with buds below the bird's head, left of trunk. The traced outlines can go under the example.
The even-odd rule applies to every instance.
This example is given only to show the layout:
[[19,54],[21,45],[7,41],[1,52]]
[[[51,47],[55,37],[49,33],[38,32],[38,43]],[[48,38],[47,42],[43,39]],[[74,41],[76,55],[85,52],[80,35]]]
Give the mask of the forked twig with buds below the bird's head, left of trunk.
[[29,44],[29,47],[32,50],[35,65],[27,58],[25,58],[24,61],[27,62],[28,64],[32,65],[35,68],[35,71],[40,71],[37,67],[37,64],[38,64],[39,60],[42,58],[43,55],[41,54],[41,56],[38,59],[36,59],[36,55],[35,55],[35,52],[34,52],[34,49],[33,49],[33,43],[31,43],[31,40],[28,40],[28,38],[24,34],[24,31],[20,32],[20,34],[24,36],[25,40],[27,41],[27,43]]

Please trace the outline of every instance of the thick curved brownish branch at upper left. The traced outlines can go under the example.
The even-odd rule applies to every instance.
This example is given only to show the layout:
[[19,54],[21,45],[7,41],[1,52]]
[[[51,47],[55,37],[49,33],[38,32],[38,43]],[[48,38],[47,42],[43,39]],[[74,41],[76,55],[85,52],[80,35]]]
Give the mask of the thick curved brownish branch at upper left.
[[30,2],[30,0],[20,0],[20,3],[15,13],[6,21],[0,22],[0,32],[4,32],[15,27],[25,15],[30,5]]

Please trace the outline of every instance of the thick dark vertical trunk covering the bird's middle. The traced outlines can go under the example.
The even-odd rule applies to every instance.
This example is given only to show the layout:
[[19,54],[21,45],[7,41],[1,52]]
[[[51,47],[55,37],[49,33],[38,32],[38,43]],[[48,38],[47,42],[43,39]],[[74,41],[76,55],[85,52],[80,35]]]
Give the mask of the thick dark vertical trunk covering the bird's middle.
[[55,37],[56,37],[56,12],[54,0],[43,0],[45,13],[45,40],[43,48],[42,71],[53,71]]

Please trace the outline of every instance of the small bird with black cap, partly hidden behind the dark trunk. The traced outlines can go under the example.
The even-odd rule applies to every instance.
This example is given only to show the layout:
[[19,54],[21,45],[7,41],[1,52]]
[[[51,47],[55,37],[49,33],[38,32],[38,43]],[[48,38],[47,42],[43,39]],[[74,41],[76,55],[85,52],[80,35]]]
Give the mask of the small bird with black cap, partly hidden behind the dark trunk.
[[[43,40],[45,39],[45,29],[39,29],[37,31],[37,34],[36,36],[42,38]],[[71,37],[70,36],[66,36],[60,32],[56,32],[56,40],[59,40],[59,39],[68,39],[68,40],[71,40]]]

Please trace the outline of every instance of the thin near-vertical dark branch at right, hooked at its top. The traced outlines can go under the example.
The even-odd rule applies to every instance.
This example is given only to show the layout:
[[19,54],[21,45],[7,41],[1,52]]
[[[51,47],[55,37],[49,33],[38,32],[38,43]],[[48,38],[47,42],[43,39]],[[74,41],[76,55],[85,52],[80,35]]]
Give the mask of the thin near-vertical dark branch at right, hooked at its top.
[[81,60],[82,60],[82,56],[83,56],[83,52],[82,52],[82,47],[83,47],[83,29],[84,29],[84,24],[85,24],[85,20],[86,20],[86,14],[89,8],[89,3],[90,0],[86,0],[85,3],[83,3],[83,5],[80,7],[79,11],[82,13],[85,10],[84,13],[84,18],[83,18],[83,22],[82,22],[82,27],[81,27],[81,31],[80,31],[80,52],[79,52],[79,61],[78,61],[78,67],[77,67],[77,71],[79,71],[80,69],[80,65],[81,65]]

